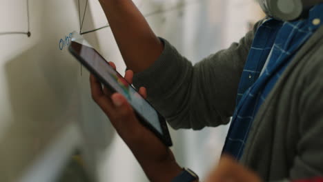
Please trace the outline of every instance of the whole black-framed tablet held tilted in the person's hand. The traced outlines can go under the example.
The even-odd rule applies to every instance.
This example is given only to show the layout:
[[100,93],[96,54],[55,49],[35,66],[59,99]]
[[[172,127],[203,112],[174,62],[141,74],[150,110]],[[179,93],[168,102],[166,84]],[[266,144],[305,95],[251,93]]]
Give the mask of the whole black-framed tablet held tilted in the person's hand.
[[141,124],[151,130],[165,145],[173,145],[164,117],[146,99],[141,97],[137,90],[114,70],[83,37],[73,32],[68,50],[106,88],[126,97]]

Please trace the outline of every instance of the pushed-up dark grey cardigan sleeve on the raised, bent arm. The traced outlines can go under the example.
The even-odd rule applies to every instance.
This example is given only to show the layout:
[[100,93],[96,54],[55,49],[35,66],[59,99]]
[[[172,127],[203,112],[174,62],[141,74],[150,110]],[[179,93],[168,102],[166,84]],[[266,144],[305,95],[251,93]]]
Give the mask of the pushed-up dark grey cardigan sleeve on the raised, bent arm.
[[192,65],[168,41],[150,68],[135,74],[133,84],[147,88],[148,101],[175,129],[226,124],[235,108],[239,79],[258,22],[239,43]]

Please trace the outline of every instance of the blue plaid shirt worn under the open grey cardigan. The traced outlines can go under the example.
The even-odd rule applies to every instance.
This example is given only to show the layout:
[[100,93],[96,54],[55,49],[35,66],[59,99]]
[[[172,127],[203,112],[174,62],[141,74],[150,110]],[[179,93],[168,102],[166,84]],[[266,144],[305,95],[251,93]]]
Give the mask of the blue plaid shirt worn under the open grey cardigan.
[[[320,21],[321,20],[321,21]],[[242,72],[223,152],[240,159],[253,119],[297,50],[321,26],[323,3],[309,11],[309,17],[293,22],[268,19],[258,28]],[[271,52],[272,51],[272,52]],[[269,53],[268,65],[260,75]]]

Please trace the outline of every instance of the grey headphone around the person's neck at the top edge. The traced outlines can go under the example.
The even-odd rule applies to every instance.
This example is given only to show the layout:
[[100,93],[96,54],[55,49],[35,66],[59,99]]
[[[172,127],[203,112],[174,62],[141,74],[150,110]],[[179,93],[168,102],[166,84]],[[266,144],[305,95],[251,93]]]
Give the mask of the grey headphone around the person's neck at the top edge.
[[258,0],[262,10],[274,19],[293,21],[301,17],[304,11],[309,10],[323,0]]

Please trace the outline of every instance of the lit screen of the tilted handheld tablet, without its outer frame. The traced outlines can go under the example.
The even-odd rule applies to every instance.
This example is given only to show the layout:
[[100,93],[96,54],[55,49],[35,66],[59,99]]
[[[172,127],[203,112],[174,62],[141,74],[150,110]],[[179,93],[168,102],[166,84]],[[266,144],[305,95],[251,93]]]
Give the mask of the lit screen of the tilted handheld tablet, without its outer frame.
[[130,105],[144,117],[161,135],[163,130],[156,110],[124,79],[108,65],[106,60],[94,49],[81,43],[72,42],[72,48],[93,70],[99,74],[115,91],[126,97]]

